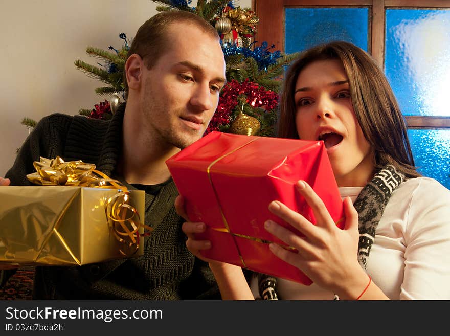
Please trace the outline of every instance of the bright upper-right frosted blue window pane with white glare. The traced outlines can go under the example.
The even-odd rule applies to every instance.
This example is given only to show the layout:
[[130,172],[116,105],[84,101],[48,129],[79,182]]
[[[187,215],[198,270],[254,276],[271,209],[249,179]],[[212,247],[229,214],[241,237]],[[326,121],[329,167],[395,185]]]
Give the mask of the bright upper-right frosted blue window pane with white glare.
[[450,116],[450,10],[386,10],[385,71],[404,115]]

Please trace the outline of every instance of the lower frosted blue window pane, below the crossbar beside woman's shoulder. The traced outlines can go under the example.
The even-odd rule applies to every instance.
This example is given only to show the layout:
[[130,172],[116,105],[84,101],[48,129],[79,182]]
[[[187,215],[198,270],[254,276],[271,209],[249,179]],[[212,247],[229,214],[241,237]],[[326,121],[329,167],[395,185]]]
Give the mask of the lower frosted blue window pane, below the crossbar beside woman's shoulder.
[[410,129],[408,137],[418,171],[450,189],[450,130]]

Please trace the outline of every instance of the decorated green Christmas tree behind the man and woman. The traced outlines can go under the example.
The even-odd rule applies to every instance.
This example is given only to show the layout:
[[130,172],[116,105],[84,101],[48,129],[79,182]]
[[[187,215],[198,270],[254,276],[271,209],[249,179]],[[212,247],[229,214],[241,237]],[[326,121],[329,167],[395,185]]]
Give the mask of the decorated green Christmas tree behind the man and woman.
[[[298,54],[283,54],[268,47],[266,42],[253,41],[257,32],[258,17],[250,8],[235,6],[229,0],[153,1],[160,5],[158,11],[186,10],[193,12],[213,25],[220,34],[226,60],[227,84],[220,93],[219,103],[206,133],[213,130],[246,135],[275,136],[278,92],[285,66]],[[119,38],[119,49],[112,45],[108,50],[87,47],[88,55],[100,61],[92,65],[76,60],[76,68],[106,86],[96,89],[98,95],[110,99],[96,104],[93,109],[80,109],[89,118],[109,119],[124,99],[122,73],[131,40],[125,33]]]

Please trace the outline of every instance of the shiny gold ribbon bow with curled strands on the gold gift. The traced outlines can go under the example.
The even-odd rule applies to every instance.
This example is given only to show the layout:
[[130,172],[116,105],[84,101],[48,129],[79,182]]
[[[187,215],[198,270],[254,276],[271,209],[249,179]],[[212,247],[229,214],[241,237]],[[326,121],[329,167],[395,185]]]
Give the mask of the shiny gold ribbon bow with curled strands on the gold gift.
[[[35,173],[28,174],[30,182],[41,186],[75,186],[91,188],[115,188],[118,192],[109,197],[105,204],[109,229],[120,244],[119,252],[130,256],[139,249],[139,228],[153,230],[141,223],[138,211],[129,205],[129,191],[119,181],[96,170],[92,163],[81,160],[64,162],[60,156],[55,159],[40,157],[33,163]],[[147,234],[145,234],[147,235]]]

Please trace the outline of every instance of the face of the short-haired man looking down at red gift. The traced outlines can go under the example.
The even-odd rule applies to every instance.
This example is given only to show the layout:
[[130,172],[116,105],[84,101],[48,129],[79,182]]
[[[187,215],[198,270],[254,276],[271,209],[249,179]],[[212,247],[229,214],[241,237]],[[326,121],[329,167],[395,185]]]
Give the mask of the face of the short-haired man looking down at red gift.
[[167,50],[143,70],[143,120],[162,146],[185,148],[201,138],[225,82],[218,39],[195,25],[172,24]]

